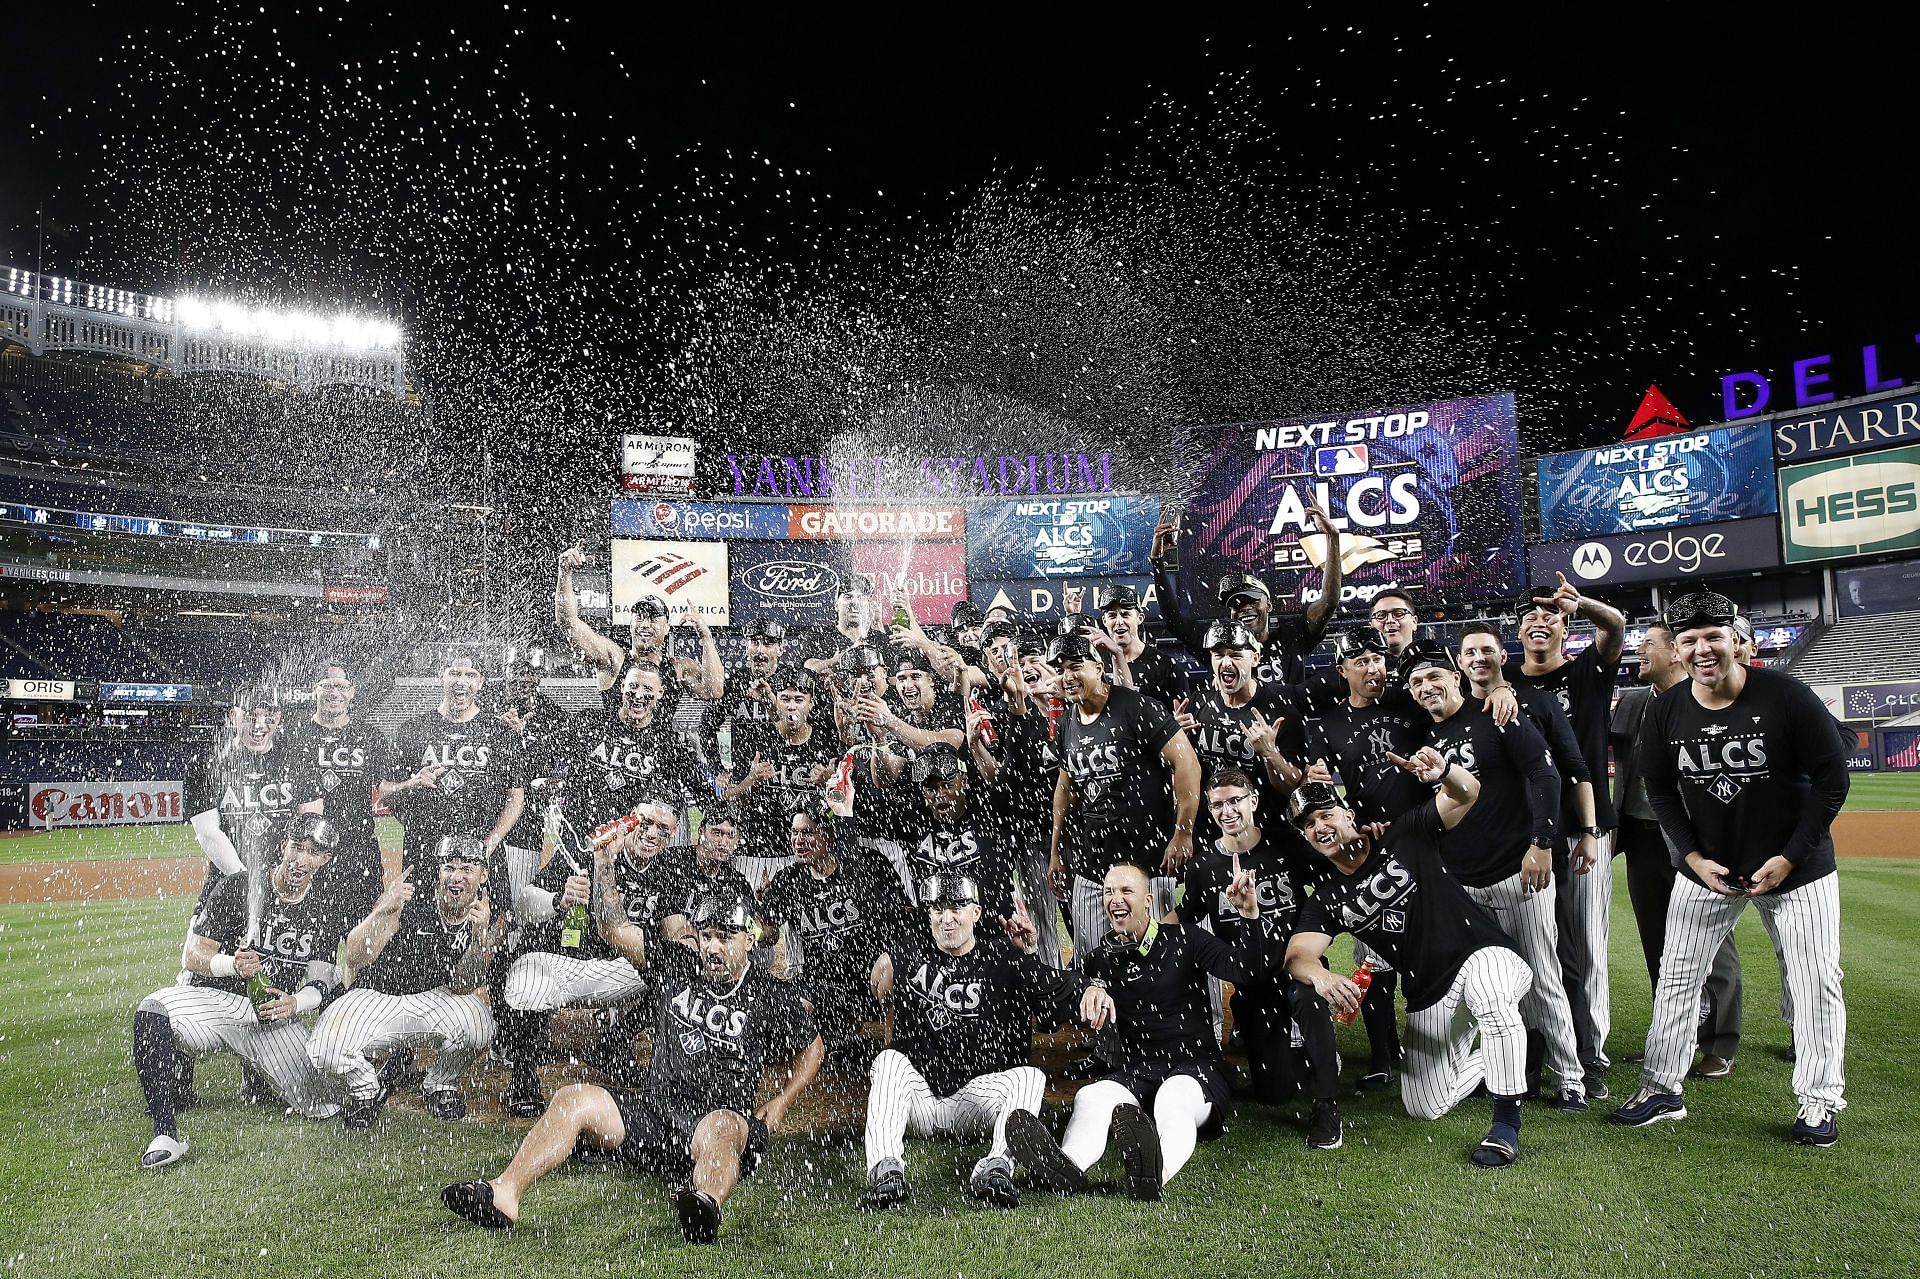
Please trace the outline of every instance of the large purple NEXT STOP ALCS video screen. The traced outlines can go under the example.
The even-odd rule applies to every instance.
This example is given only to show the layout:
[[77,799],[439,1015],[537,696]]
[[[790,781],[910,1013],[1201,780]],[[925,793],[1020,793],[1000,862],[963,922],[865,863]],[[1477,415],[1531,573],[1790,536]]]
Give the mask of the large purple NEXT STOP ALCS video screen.
[[1475,396],[1219,428],[1181,513],[1181,609],[1213,611],[1225,572],[1252,572],[1277,607],[1319,593],[1340,528],[1344,595],[1511,595],[1524,576],[1513,396]]

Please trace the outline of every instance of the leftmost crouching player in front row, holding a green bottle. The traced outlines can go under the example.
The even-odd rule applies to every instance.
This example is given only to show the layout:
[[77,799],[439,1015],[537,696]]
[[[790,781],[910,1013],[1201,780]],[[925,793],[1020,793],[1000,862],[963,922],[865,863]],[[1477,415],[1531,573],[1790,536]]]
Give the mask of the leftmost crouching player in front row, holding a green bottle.
[[[140,1001],[132,1014],[132,1062],[154,1120],[154,1141],[140,1154],[140,1168],[165,1168],[186,1156],[186,1139],[175,1125],[180,1052],[234,1052],[309,1120],[340,1112],[307,1058],[307,1027],[300,1022],[338,979],[334,951],[348,922],[324,887],[338,847],[340,830],[332,822],[296,816],[265,897],[255,899],[246,874],[221,880],[186,945],[192,983],[165,985]],[[255,977],[267,983],[257,1004],[248,997]]]

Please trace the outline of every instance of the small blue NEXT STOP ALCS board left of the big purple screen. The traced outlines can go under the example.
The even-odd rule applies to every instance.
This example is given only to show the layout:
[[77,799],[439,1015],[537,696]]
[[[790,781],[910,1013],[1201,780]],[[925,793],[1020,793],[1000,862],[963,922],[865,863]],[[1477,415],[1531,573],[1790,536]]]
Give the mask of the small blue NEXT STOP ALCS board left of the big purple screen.
[[1066,578],[1152,572],[1146,553],[1158,497],[1043,497],[966,503],[970,578]]

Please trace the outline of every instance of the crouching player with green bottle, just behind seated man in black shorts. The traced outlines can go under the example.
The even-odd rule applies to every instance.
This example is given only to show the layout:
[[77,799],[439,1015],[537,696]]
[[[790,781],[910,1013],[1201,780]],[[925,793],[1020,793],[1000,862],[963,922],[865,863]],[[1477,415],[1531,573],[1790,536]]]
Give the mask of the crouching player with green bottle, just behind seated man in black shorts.
[[[634,672],[628,672],[628,680]],[[614,843],[612,878],[626,903],[628,918],[660,935],[668,916],[685,910],[687,885],[674,858],[662,857],[680,830],[678,793],[653,793],[636,801],[639,826]],[[493,1016],[499,1022],[499,1041],[513,1062],[503,1108],[507,1114],[532,1120],[547,1108],[540,1087],[540,1062],[545,1060],[547,1024],[561,1008],[620,1008],[641,999],[647,979],[620,954],[599,939],[591,928],[566,928],[572,906],[586,908],[591,897],[591,851],[564,843],[534,876],[534,881],[515,903],[522,924],[520,954],[507,968],[501,999]],[[651,1018],[647,1018],[651,1020]],[[603,1052],[601,1060],[618,1070],[630,1056],[632,1035],[612,1045],[618,1052]]]

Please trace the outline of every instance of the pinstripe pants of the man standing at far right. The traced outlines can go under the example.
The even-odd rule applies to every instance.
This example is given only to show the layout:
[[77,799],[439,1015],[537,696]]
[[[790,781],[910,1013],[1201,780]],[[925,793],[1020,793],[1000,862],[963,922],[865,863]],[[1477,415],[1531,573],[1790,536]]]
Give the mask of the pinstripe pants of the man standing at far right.
[[1678,1093],[1693,1064],[1699,987],[1720,941],[1753,903],[1780,954],[1780,981],[1793,1002],[1793,1097],[1843,1110],[1847,1002],[1839,968],[1839,876],[1826,874],[1788,893],[1722,897],[1688,876],[1674,878],[1667,899],[1667,949],[1653,989],[1647,1064],[1642,1083]]

